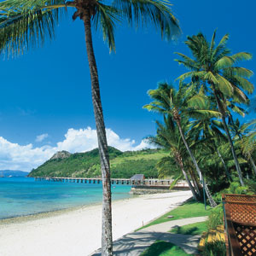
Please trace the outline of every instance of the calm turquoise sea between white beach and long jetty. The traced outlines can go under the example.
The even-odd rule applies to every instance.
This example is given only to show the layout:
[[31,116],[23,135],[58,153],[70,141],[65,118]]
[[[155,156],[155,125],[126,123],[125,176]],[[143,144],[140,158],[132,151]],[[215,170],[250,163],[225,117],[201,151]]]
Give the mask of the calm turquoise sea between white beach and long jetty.
[[[113,200],[130,198],[131,186],[113,185]],[[102,184],[36,182],[0,177],[0,218],[79,207],[102,201]]]

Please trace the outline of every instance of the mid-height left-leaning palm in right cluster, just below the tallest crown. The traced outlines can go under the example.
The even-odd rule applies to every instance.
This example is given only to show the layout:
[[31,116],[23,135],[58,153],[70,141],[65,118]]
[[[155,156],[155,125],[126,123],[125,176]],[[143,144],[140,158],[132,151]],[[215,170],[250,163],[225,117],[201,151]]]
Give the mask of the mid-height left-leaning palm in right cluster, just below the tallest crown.
[[[163,83],[159,85],[156,90],[149,90],[148,95],[154,99],[148,105],[143,108],[147,108],[149,111],[154,111],[157,113],[168,113],[172,115],[172,118],[177,123],[178,130],[182,137],[183,143],[188,150],[189,156],[193,161],[195,170],[199,177],[202,177],[201,169],[195,160],[195,155],[189,148],[189,144],[186,141],[185,134],[183,132],[183,127],[181,125],[181,120],[185,117],[198,118],[202,116],[219,116],[219,113],[214,110],[209,110],[206,107],[207,97],[201,93],[195,93],[194,84],[188,86],[181,84],[179,90],[175,90],[171,85]],[[206,184],[206,193],[210,205],[216,207],[216,202],[212,199],[209,189]]]

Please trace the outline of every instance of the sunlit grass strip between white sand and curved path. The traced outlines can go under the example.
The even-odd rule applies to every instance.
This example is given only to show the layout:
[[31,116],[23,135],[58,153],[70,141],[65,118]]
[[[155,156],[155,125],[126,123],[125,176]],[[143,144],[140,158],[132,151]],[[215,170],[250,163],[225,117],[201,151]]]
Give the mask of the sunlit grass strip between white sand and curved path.
[[[201,202],[186,201],[182,206],[177,207],[170,212],[167,212],[160,218],[155,219],[151,223],[143,226],[138,230],[142,230],[154,224],[160,224],[160,223],[164,223],[164,222],[175,220],[175,219],[208,216],[210,215],[211,212],[212,212],[212,208],[207,207],[207,211],[206,211],[204,204]],[[172,215],[173,218],[167,218],[169,215]]]

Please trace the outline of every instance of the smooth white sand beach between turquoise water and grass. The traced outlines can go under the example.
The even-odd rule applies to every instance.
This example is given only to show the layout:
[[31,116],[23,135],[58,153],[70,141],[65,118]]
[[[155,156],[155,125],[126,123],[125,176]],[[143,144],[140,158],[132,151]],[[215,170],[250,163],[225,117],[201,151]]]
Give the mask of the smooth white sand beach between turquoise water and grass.
[[[113,240],[160,217],[190,191],[113,201]],[[21,218],[22,219],[22,218]],[[101,247],[101,205],[0,224],[1,256],[86,256]]]

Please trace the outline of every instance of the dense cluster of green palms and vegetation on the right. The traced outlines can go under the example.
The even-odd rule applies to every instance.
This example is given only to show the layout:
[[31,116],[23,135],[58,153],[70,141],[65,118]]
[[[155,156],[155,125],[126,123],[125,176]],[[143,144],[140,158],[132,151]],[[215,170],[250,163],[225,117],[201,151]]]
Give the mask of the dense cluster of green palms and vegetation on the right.
[[216,32],[211,41],[202,33],[188,37],[191,54],[177,53],[176,61],[189,72],[177,78],[178,86],[160,83],[149,90],[152,102],[144,106],[163,118],[148,137],[169,152],[158,162],[160,175],[183,176],[198,201],[204,188],[212,207],[234,187],[240,194],[256,192],[256,121],[235,118],[246,117],[254,90],[253,71],[240,66],[252,54],[231,54],[228,34],[218,44],[215,38]]

